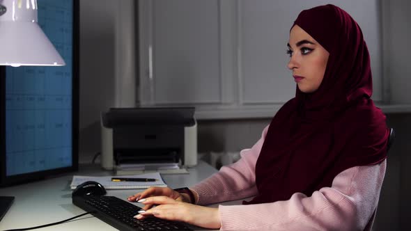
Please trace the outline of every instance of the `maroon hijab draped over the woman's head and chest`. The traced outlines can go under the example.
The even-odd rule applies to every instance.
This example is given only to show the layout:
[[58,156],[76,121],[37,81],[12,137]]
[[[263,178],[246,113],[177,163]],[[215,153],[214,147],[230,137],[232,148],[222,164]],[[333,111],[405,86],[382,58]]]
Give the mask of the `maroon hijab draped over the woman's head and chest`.
[[314,93],[298,87],[270,123],[256,163],[258,196],[245,204],[311,196],[343,170],[387,157],[385,116],[370,98],[369,51],[358,24],[333,5],[303,10],[295,23],[328,52]]

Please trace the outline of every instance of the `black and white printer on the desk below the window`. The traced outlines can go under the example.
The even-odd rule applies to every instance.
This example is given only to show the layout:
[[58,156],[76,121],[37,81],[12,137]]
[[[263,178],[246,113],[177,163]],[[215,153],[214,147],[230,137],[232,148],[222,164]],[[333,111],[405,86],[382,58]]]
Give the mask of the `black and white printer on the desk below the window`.
[[101,113],[101,128],[104,169],[197,164],[194,107],[111,108]]

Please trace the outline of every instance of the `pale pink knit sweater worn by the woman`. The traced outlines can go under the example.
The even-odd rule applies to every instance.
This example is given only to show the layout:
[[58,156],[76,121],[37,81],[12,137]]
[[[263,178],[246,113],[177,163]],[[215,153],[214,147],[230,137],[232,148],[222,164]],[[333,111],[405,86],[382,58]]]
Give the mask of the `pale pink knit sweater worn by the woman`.
[[[267,129],[251,149],[242,150],[239,161],[191,188],[198,205],[256,196],[255,166]],[[349,168],[310,197],[294,193],[271,203],[219,205],[221,230],[364,230],[378,205],[385,167],[386,161]]]

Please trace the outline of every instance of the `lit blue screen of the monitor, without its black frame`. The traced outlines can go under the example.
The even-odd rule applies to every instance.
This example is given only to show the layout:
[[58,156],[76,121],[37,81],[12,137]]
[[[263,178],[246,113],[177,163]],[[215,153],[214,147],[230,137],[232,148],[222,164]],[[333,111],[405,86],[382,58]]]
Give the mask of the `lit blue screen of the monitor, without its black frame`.
[[62,67],[6,67],[6,175],[72,166],[73,3],[38,0]]

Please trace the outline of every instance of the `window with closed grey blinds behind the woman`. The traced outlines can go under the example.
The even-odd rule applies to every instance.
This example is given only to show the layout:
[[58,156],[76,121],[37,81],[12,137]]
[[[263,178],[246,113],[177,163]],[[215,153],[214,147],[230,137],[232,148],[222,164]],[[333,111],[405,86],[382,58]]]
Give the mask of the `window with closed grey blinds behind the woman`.
[[263,108],[259,117],[272,116],[295,95],[286,67],[290,26],[301,10],[325,3],[345,9],[362,27],[371,55],[373,99],[382,100],[378,0],[139,3],[142,105],[194,104],[200,119],[222,118],[221,113],[233,110],[235,118],[253,118],[249,111]]

